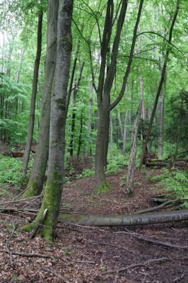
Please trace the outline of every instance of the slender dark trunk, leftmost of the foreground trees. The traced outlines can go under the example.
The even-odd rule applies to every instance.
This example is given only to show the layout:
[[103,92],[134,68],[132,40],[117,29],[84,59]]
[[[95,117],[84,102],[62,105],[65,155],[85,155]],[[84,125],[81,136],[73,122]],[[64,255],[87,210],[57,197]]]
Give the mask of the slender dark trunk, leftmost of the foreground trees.
[[30,149],[33,140],[33,130],[35,124],[35,101],[37,96],[38,72],[39,72],[40,56],[42,50],[42,18],[43,18],[43,11],[40,11],[38,15],[37,54],[35,59],[34,72],[33,72],[33,87],[32,87],[31,102],[30,102],[30,120],[28,127],[28,139],[25,146],[25,153],[23,156],[23,178],[26,177],[28,171],[28,162],[30,159]]

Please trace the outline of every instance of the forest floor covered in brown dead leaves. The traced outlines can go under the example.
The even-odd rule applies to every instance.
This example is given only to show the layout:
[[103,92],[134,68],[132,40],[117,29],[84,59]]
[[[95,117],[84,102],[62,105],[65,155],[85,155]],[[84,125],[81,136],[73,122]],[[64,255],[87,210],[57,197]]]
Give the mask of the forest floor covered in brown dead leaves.
[[[154,175],[160,172],[136,171],[134,197],[125,198],[125,189],[120,185],[125,171],[110,175],[107,180],[112,188],[100,195],[95,193],[94,178],[66,183],[62,197],[64,210],[84,214],[124,214],[151,207],[151,198],[163,194],[163,190],[148,181],[148,171]],[[30,207],[37,207],[38,202],[39,199],[35,200]],[[19,209],[20,204],[15,207]],[[188,283],[186,221],[129,226],[128,229],[59,223],[54,243],[49,245],[38,236],[30,240],[28,233],[20,231],[31,219],[30,214],[0,216],[0,283]],[[18,227],[13,231],[16,224]],[[153,239],[154,243],[143,241],[142,236]],[[6,248],[12,254],[2,252]],[[40,257],[31,257],[30,253],[40,254]],[[120,269],[124,270],[117,271]]]

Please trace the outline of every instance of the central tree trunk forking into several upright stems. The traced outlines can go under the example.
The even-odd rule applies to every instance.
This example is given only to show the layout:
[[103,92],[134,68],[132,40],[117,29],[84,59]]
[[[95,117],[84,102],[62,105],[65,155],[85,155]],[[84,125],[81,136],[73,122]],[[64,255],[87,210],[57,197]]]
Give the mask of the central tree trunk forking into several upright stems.
[[[136,32],[139,25],[141,10],[143,6],[143,0],[140,1],[139,11],[136,18],[136,23],[134,26],[134,35],[131,44],[129,62],[127,64],[127,69],[124,74],[124,79],[122,83],[121,91],[119,96],[110,104],[110,92],[112,89],[112,83],[114,81],[115,67],[117,64],[117,54],[119,51],[119,41],[122,33],[122,27],[124,24],[124,18],[127,11],[127,1],[122,1],[122,6],[120,8],[119,17],[117,19],[117,30],[114,37],[114,42],[112,45],[112,57],[110,64],[107,68],[107,76],[105,77],[105,69],[107,67],[107,53],[109,51],[110,38],[112,35],[113,26],[113,1],[107,2],[107,13],[105,18],[105,28],[102,35],[102,48],[101,48],[101,63],[100,63],[100,74],[98,80],[98,88],[95,88],[98,98],[98,134],[95,149],[95,180],[99,191],[103,191],[102,187],[105,189],[108,187],[107,181],[105,179],[105,166],[107,164],[107,145],[109,138],[109,125],[110,125],[110,111],[119,103],[124,95],[124,91],[127,84],[127,78],[131,69],[131,62],[134,54],[134,47],[136,43]],[[93,81],[95,86],[95,82]],[[105,119],[104,121],[100,121]],[[98,149],[99,146],[99,149]],[[101,155],[101,156],[100,156]],[[103,160],[103,161],[102,161]],[[100,166],[100,167],[96,167]]]

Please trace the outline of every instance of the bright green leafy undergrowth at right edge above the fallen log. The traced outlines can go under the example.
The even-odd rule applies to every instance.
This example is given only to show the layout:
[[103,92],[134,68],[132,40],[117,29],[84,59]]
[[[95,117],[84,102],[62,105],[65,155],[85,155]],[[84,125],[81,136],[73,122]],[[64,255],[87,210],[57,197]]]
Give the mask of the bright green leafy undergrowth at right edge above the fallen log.
[[[168,171],[164,168],[160,175],[148,175],[149,182],[158,183],[163,190],[175,193],[177,198],[188,198],[188,170],[173,169]],[[188,209],[188,201],[184,202],[184,206]]]

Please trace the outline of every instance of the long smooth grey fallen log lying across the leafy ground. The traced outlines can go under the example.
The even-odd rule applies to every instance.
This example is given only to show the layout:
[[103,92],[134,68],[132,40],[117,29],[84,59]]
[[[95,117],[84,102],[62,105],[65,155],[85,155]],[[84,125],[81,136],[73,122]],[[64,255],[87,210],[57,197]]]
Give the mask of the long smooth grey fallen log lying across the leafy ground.
[[124,215],[72,215],[60,214],[59,221],[76,222],[83,226],[126,226],[158,224],[173,221],[188,220],[188,209],[173,212],[155,212],[152,214],[124,214]]

